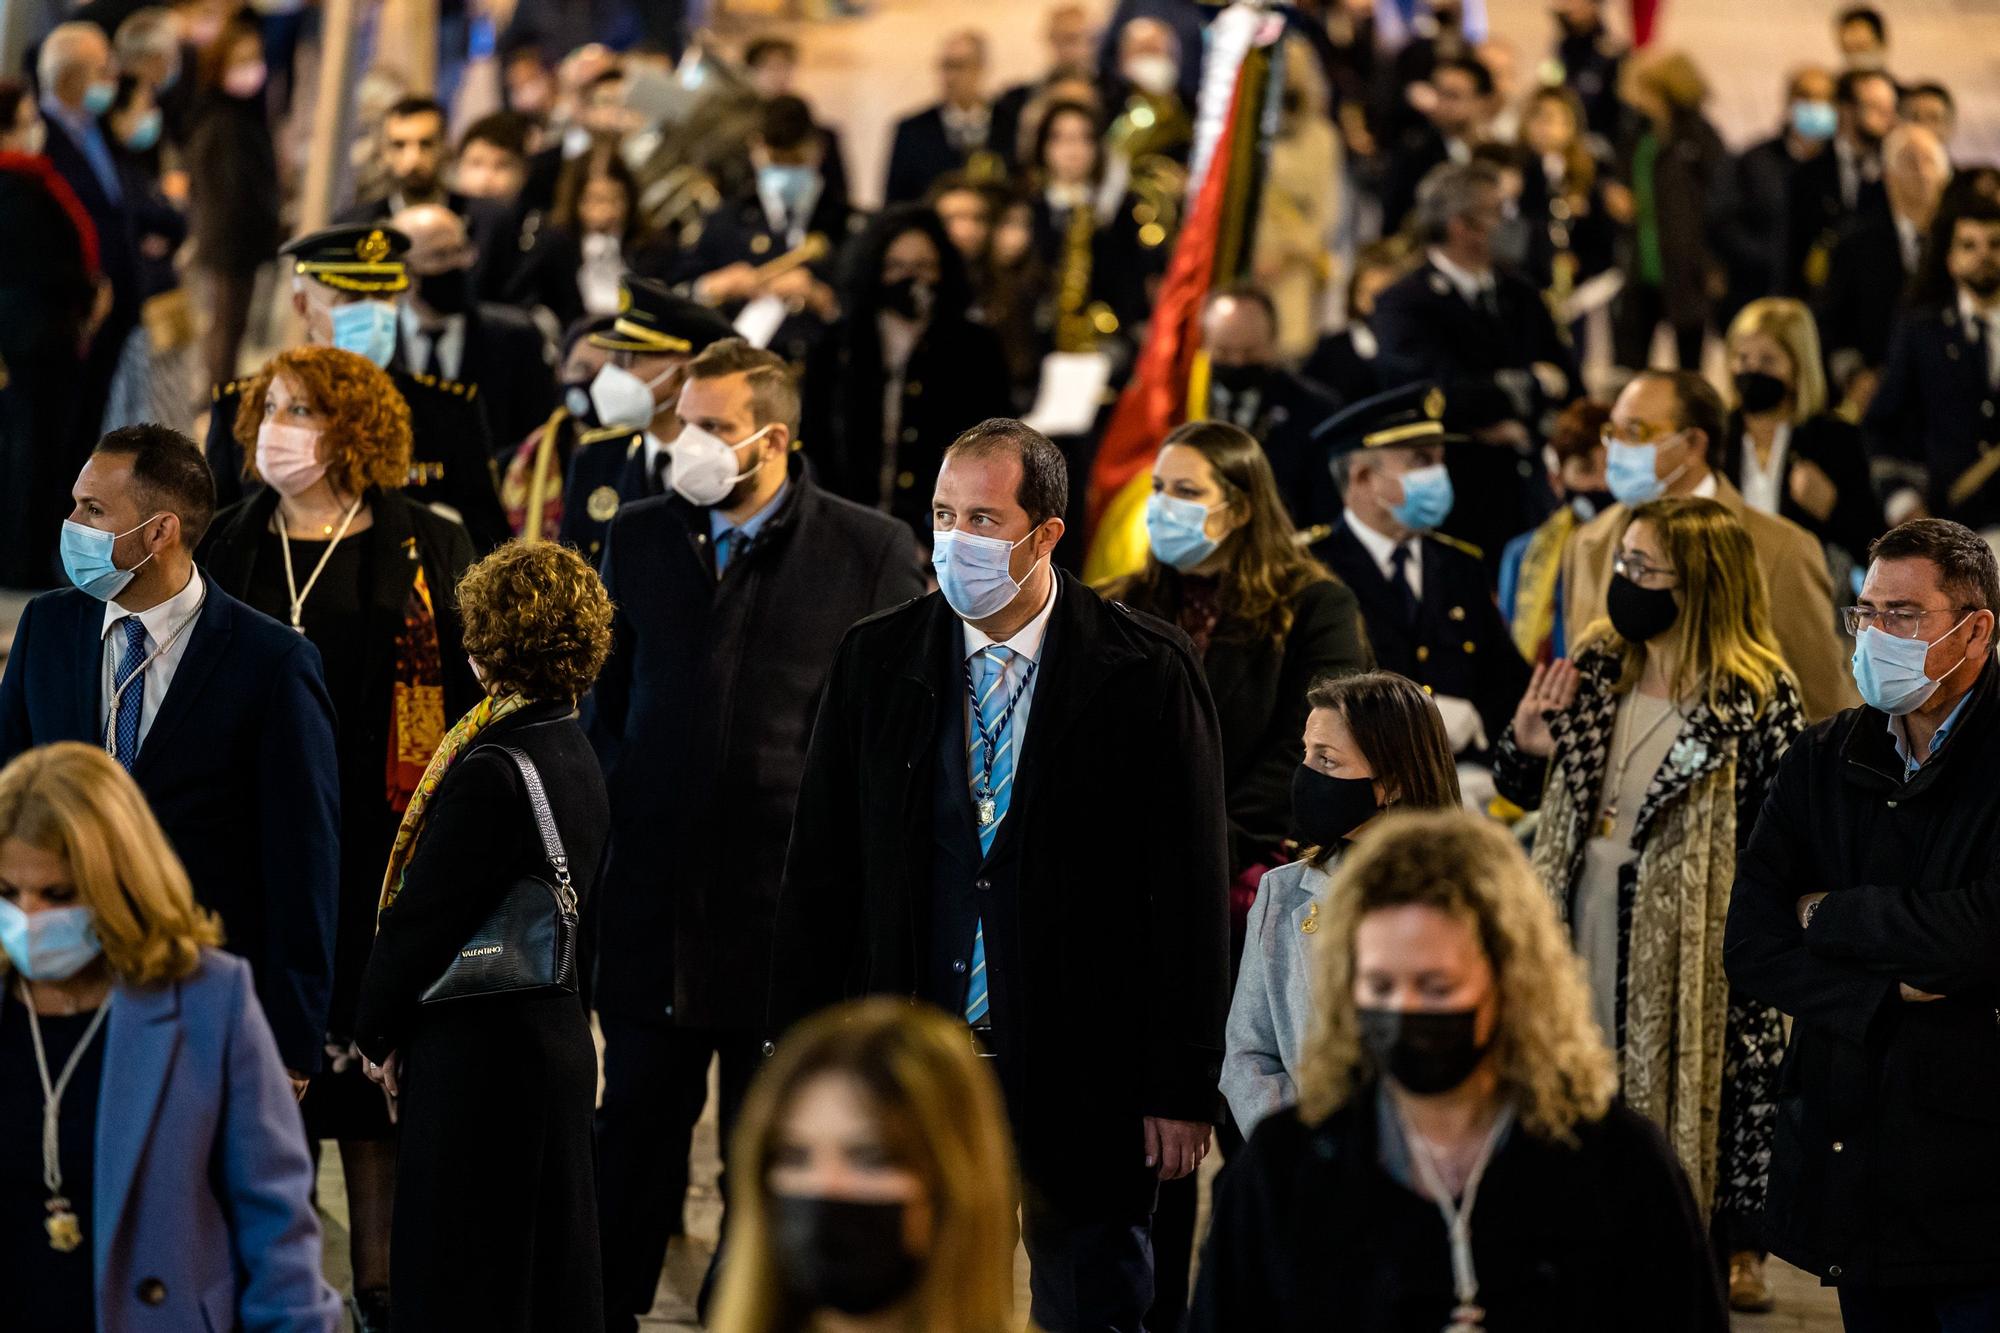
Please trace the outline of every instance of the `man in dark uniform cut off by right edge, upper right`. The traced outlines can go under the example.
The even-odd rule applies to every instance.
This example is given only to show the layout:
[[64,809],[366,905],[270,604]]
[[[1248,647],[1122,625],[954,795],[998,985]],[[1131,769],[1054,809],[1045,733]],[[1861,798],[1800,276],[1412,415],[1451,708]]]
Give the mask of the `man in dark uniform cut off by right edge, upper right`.
[[1866,428],[1876,472],[1898,486],[1892,518],[1922,500],[1932,514],[1984,528],[2000,522],[2000,208],[1978,204],[1956,218],[1944,262],[1956,300],[1896,324]]

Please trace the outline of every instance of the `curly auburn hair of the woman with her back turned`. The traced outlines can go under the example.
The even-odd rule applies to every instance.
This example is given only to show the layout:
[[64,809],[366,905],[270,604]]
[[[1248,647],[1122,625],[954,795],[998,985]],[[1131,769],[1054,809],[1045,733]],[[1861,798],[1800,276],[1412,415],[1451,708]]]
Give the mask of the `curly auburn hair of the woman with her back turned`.
[[508,542],[458,580],[466,652],[494,695],[576,703],[612,650],[612,598],[584,556]]

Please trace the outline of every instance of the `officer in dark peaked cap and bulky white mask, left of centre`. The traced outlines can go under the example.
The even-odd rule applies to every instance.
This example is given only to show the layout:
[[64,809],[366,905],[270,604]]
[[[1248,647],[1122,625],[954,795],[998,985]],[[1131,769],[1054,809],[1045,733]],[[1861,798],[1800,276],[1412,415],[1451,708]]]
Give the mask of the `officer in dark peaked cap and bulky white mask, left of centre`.
[[612,326],[588,338],[610,352],[588,388],[600,424],[576,436],[562,478],[560,540],[592,564],[622,504],[666,494],[668,444],[680,434],[680,374],[702,348],[730,336],[720,314],[652,278],[626,274],[618,304],[624,312]]

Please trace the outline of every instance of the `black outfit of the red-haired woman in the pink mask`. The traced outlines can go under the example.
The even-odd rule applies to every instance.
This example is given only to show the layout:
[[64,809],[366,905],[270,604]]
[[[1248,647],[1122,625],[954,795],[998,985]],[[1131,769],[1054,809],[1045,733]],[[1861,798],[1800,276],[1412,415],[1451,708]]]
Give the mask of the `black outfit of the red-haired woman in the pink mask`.
[[[444,723],[478,699],[460,646],[450,588],[472,564],[472,538],[400,494],[370,492],[370,526],[346,536],[312,584],[300,612],[306,638],[320,650],[326,693],[334,701],[340,755],[340,911],[334,927],[334,995],[326,1017],[326,1063],[306,1089],[306,1133],[314,1139],[386,1139],[388,1103],[352,1057],[354,1005],[374,947],[382,869],[402,813],[388,801],[388,725],[396,634],[424,570],[438,626],[444,675]],[[202,568],[232,596],[278,622],[290,622],[292,596],[284,552],[270,518],[270,488],[222,510],[202,542]],[[292,540],[292,576],[312,576],[326,542]]]

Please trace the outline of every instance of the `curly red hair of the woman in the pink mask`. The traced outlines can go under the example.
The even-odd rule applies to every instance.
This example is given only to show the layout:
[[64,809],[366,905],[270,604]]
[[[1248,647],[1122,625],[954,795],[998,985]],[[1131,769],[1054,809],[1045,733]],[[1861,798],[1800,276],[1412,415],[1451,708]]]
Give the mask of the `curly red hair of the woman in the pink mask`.
[[332,346],[278,352],[244,384],[234,428],[244,476],[264,480],[256,474],[256,432],[264,424],[270,382],[280,374],[296,396],[326,416],[320,452],[326,454],[326,480],[334,490],[396,490],[410,478],[410,404],[402,400],[396,380],[366,356]]

